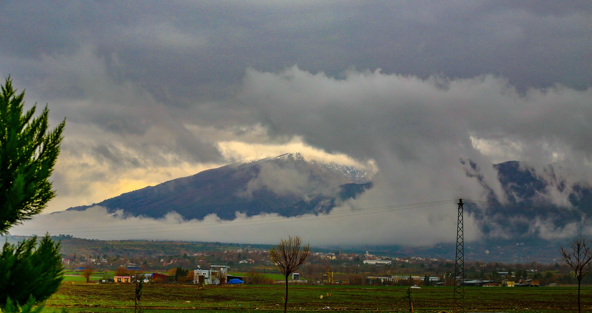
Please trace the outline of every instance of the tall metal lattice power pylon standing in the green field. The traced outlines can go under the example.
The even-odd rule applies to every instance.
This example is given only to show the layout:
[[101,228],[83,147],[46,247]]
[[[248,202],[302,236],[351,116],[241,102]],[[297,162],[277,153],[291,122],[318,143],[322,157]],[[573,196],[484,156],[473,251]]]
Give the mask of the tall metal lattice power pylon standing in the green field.
[[463,242],[464,221],[462,210],[464,203],[458,199],[458,220],[456,222],[456,266],[454,267],[454,312],[465,312],[465,249]]

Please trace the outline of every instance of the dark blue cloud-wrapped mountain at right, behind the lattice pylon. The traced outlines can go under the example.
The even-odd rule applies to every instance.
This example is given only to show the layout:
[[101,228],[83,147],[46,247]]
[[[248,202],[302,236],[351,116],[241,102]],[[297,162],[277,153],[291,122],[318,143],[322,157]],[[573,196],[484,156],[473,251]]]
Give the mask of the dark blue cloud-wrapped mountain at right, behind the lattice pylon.
[[[478,178],[478,166],[470,166],[475,170],[467,171],[467,175]],[[482,233],[540,247],[549,241],[568,244],[568,240],[577,237],[580,228],[585,227],[587,216],[592,214],[592,187],[578,179],[579,175],[571,169],[558,163],[535,169],[529,163],[518,161],[493,167],[505,199],[490,192],[487,199],[490,205],[465,206],[480,224]],[[486,191],[491,191],[479,181]],[[491,237],[488,240],[491,241]]]

